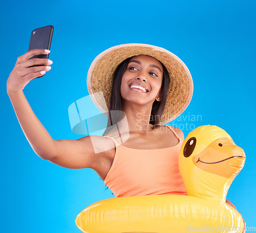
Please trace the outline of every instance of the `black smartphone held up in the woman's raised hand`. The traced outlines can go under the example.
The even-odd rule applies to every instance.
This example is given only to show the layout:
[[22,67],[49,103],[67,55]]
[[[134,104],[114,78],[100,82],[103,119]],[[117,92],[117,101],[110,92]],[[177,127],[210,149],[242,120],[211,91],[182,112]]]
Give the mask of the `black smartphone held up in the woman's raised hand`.
[[[29,42],[29,50],[32,49],[47,49],[50,50],[51,42],[52,42],[52,34],[53,34],[53,26],[48,25],[46,27],[34,29],[31,32],[30,42]],[[49,54],[38,54],[32,58],[49,58]],[[33,66],[42,66],[42,65],[33,65]],[[30,67],[33,67],[30,66]],[[44,76],[44,75],[42,75]],[[42,77],[40,76],[40,77]],[[40,78],[38,77],[38,78]]]

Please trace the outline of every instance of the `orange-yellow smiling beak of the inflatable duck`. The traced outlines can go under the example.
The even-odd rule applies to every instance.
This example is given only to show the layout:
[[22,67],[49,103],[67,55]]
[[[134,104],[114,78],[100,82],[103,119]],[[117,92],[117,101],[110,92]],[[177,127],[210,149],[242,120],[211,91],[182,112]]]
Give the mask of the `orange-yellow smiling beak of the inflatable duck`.
[[203,171],[234,178],[244,167],[244,150],[228,137],[222,137],[209,144],[192,158],[194,165]]

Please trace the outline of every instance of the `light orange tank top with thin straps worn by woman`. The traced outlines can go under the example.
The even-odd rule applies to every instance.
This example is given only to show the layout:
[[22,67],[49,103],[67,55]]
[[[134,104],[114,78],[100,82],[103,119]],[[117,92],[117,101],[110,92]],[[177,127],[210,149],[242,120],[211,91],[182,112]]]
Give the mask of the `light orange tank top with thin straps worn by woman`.
[[176,146],[162,149],[132,149],[124,147],[111,138],[116,145],[113,164],[104,184],[115,197],[161,194],[187,195],[180,175],[178,157],[181,138]]

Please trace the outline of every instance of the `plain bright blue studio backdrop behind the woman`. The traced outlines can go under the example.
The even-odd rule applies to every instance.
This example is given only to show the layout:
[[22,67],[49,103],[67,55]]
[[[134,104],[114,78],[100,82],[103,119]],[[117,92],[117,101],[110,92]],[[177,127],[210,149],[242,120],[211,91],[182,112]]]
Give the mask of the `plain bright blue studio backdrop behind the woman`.
[[[54,26],[52,69],[24,94],[53,139],[77,139],[68,107],[88,95],[93,59],[111,46],[163,47],[187,65],[193,98],[170,125],[184,132],[217,125],[246,153],[227,199],[255,227],[255,7],[251,1],[5,1],[1,4],[1,231],[80,232],[76,216],[114,197],[92,169],[67,169],[38,157],[19,126],[6,92],[17,57],[33,29]],[[95,107],[96,108],[96,107]],[[193,116],[197,117],[194,120]],[[190,128],[189,128],[190,127]]]

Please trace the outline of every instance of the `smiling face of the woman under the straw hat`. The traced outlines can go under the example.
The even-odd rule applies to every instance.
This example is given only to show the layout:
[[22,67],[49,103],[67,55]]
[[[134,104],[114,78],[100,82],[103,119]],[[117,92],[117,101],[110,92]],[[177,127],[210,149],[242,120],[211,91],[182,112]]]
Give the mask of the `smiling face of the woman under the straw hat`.
[[138,104],[160,101],[162,80],[163,67],[157,59],[145,55],[133,57],[121,80],[122,101]]

